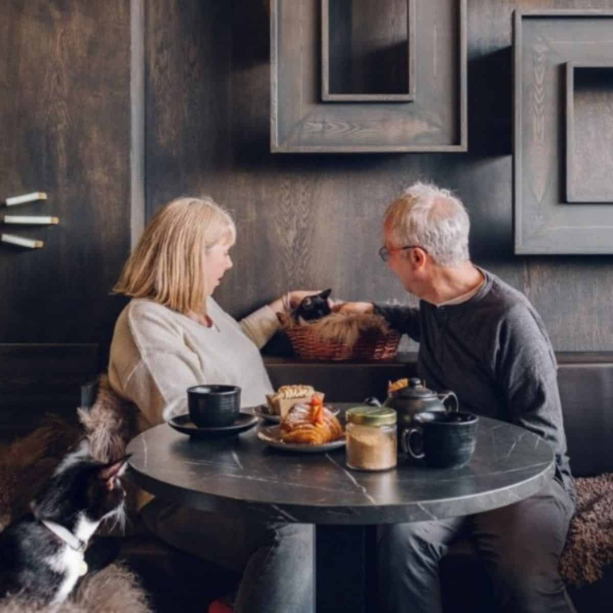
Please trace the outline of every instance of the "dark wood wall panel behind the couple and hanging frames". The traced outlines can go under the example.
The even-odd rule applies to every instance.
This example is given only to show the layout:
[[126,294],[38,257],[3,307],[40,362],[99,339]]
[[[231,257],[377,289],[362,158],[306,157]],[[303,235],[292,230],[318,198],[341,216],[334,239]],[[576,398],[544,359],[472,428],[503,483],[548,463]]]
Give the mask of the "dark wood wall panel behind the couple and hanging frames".
[[[405,300],[379,261],[380,220],[411,182],[454,189],[478,264],[518,287],[558,351],[613,349],[613,258],[518,257],[512,234],[512,11],[612,0],[468,0],[468,153],[271,154],[267,2],[147,2],[147,202],[205,192],[235,213],[235,315],[289,287]],[[417,60],[419,61],[419,59]],[[613,240],[613,237],[612,239]]]

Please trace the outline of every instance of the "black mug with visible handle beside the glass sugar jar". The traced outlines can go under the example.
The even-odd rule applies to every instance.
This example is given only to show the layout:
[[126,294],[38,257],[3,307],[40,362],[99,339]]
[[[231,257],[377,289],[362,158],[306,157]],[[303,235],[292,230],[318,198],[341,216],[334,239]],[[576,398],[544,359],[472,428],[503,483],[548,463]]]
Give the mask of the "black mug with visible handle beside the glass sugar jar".
[[[470,460],[476,444],[479,417],[463,411],[422,411],[413,427],[402,432],[402,450],[432,468],[460,468]],[[412,440],[421,438],[421,451]]]

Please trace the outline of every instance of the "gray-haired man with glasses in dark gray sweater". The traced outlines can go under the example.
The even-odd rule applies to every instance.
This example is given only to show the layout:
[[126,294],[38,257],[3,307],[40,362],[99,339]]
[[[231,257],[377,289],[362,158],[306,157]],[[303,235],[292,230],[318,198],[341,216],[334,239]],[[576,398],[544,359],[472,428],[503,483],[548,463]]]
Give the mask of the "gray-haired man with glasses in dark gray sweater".
[[438,562],[460,531],[470,533],[501,611],[569,612],[558,558],[574,512],[574,489],[558,394],[557,365],[528,299],[468,254],[462,202],[417,183],[392,202],[379,254],[416,295],[418,308],[368,302],[342,311],[382,314],[419,342],[417,370],[460,406],[520,425],[554,449],[555,478],[527,500],[468,517],[383,528],[379,569],[384,611],[442,611]]

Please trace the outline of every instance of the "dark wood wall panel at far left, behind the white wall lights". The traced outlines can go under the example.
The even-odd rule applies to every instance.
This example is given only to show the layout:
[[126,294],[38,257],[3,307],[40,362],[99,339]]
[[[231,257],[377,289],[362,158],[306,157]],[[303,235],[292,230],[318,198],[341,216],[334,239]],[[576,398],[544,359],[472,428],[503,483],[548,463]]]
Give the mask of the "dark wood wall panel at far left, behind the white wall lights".
[[42,249],[0,243],[0,436],[74,414],[105,358],[130,241],[130,0],[0,2],[0,215]]

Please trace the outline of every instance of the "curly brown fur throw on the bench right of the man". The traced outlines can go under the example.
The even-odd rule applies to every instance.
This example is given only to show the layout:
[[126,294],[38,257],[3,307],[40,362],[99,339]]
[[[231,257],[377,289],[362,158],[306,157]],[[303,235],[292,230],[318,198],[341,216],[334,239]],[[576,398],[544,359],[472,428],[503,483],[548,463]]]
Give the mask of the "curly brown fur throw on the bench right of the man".
[[613,473],[575,479],[577,511],[560,559],[560,574],[580,587],[601,579],[613,562]]

